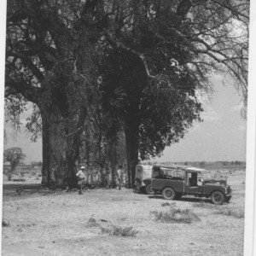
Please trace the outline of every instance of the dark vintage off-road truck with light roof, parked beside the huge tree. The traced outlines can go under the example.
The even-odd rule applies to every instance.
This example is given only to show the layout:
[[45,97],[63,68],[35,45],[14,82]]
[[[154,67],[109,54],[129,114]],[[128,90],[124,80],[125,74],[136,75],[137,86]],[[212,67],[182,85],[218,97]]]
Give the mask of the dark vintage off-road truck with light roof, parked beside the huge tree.
[[209,171],[192,166],[154,166],[151,189],[166,200],[195,195],[211,198],[216,205],[229,202],[232,193],[226,180],[213,179]]

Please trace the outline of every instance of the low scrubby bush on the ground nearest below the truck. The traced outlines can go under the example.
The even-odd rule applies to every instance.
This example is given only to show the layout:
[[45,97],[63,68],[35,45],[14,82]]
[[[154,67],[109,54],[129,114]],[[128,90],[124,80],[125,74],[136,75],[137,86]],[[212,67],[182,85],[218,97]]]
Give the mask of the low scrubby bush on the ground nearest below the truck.
[[189,209],[180,210],[176,208],[175,203],[170,205],[169,212],[151,212],[154,214],[155,220],[163,223],[184,223],[191,224],[193,221],[200,221],[198,216]]

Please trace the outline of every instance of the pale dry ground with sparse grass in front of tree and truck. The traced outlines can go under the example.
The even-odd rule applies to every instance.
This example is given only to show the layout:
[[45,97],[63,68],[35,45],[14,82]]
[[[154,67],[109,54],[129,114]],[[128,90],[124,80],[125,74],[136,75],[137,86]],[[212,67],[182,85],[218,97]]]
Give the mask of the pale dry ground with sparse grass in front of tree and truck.
[[[161,223],[152,212],[168,212],[161,195],[132,189],[50,191],[39,181],[3,183],[2,255],[224,255],[243,254],[245,171],[227,172],[233,189],[229,204],[183,197],[177,209],[189,209],[201,221]],[[233,212],[228,215],[218,212]],[[234,214],[235,212],[235,214]],[[93,218],[96,223],[90,224]],[[110,236],[101,226],[132,227],[137,235]]]

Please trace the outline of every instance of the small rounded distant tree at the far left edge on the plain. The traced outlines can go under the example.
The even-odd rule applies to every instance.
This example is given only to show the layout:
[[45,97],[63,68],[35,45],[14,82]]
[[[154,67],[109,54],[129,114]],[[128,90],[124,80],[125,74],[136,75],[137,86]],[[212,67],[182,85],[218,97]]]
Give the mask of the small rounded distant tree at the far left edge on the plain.
[[3,161],[10,163],[10,170],[8,172],[8,180],[11,180],[12,175],[15,172],[15,168],[22,163],[22,160],[26,158],[26,154],[22,153],[21,148],[8,148],[3,152]]

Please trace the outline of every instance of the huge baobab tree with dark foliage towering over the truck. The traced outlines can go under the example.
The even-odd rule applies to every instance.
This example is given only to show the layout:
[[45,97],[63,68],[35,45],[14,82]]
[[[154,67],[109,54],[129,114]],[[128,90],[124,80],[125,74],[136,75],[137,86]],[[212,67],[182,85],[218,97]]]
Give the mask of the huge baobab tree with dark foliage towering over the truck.
[[212,73],[230,73],[246,104],[248,12],[246,0],[9,0],[5,96],[14,113],[37,106],[43,184],[74,181],[81,137],[119,131],[134,173],[201,120]]

